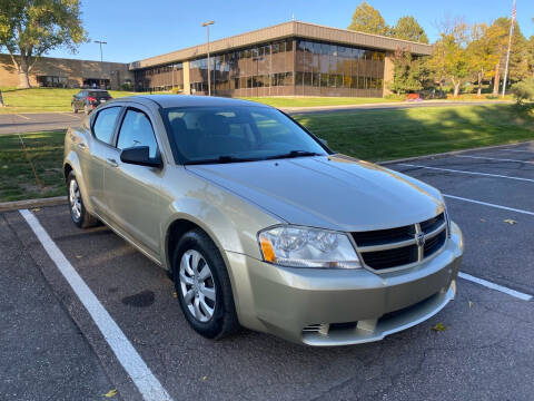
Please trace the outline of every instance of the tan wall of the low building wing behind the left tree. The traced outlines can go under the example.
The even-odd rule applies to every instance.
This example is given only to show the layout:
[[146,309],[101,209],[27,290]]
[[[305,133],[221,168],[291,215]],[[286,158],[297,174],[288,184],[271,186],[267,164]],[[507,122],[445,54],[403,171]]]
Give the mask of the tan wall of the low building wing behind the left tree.
[[[118,89],[128,79],[134,82],[134,74],[127,63],[50,57],[40,58],[33,66],[30,84],[34,87],[38,86],[37,76],[65,77],[67,86],[72,88],[81,87],[83,79],[88,78],[109,79],[111,89]],[[19,76],[9,55],[0,55],[0,86],[19,86]]]

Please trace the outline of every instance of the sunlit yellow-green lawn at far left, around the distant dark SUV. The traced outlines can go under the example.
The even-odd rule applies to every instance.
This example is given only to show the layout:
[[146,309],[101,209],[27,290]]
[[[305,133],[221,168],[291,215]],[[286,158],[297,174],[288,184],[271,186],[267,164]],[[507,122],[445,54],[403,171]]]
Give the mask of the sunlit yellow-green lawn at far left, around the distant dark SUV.
[[[2,90],[3,102],[7,106],[0,107],[1,114],[70,111],[72,95],[80,91],[80,89],[61,88],[0,89]],[[113,98],[137,95],[119,90],[110,90],[109,94]]]

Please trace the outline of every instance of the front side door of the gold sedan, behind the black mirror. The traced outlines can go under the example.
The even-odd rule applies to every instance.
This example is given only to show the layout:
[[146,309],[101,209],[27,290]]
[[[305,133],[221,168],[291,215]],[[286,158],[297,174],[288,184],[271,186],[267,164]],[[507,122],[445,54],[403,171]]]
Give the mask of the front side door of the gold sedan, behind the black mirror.
[[162,168],[122,163],[120,151],[148,146],[150,157],[160,155],[157,133],[146,109],[128,107],[117,134],[117,144],[105,168],[106,204],[112,225],[159,260],[161,237]]

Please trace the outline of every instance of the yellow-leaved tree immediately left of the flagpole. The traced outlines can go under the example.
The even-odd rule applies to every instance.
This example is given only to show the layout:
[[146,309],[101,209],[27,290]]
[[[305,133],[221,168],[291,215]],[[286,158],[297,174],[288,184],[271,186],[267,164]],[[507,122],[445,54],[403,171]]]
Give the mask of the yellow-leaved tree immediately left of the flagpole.
[[477,95],[482,96],[482,82],[491,79],[498,62],[495,53],[498,38],[491,35],[485,23],[474,25],[471,29],[471,42],[467,45],[468,69],[477,81]]

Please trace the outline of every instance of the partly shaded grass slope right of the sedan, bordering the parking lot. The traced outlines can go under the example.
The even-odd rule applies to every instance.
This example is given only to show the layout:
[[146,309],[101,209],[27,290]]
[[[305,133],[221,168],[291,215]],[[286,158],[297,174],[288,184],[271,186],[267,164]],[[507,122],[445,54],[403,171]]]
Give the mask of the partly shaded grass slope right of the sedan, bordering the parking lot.
[[534,139],[534,107],[358,110],[295,118],[340,153],[387,160]]

